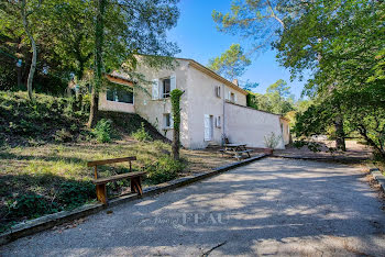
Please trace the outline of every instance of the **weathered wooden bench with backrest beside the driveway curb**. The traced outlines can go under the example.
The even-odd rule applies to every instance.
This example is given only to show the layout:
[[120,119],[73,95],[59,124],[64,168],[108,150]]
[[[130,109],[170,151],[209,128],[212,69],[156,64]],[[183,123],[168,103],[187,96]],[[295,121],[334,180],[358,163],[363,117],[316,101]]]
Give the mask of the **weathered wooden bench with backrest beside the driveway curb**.
[[[106,183],[121,180],[121,179],[130,179],[131,181],[131,192],[136,192],[139,195],[143,194],[142,191],[142,177],[146,174],[144,170],[132,172],[131,161],[136,160],[135,156],[124,157],[124,158],[116,158],[116,159],[102,159],[102,160],[94,160],[87,163],[88,167],[95,167],[95,179],[92,179],[92,183],[96,185],[97,198],[103,204],[107,204],[107,190]],[[98,166],[106,164],[117,164],[130,161],[130,172],[114,175],[108,178],[98,178]]]

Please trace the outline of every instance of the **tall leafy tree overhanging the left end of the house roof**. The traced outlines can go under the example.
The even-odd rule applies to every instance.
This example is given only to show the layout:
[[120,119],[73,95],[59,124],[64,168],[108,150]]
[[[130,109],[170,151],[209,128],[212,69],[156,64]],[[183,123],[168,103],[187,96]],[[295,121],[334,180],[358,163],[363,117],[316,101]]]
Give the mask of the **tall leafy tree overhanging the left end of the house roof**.
[[[168,65],[178,52],[166,40],[166,31],[179,16],[177,0],[98,0],[96,23],[96,64],[91,110],[88,126],[94,126],[98,112],[98,94],[103,87],[102,72],[123,70],[133,81],[143,79],[135,72],[138,58],[152,67]],[[106,15],[109,13],[109,15]],[[152,55],[152,56],[148,56]],[[155,57],[154,57],[155,56]]]

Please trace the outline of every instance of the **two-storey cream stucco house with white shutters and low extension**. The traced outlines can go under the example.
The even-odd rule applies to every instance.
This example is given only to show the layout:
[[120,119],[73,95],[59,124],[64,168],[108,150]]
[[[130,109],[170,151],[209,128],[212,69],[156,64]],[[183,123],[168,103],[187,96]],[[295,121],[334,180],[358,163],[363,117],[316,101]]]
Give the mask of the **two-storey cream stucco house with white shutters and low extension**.
[[167,138],[173,138],[169,92],[178,88],[180,100],[180,143],[191,149],[210,144],[221,145],[223,137],[232,143],[264,148],[264,137],[274,132],[280,137],[277,148],[289,142],[288,122],[280,115],[246,107],[248,92],[193,59],[176,58],[169,69],[140,66],[152,85],[138,89],[123,75],[112,72],[111,82],[131,90],[108,89],[99,96],[99,110],[138,113]]

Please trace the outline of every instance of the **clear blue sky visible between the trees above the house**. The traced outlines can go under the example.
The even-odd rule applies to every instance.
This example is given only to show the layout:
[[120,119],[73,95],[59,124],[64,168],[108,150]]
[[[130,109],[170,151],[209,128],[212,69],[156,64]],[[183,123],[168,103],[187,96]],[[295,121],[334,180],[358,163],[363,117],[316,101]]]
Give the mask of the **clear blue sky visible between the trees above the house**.
[[[182,49],[178,57],[191,58],[207,65],[212,57],[219,56],[231,44],[242,41],[238,36],[220,33],[212,21],[212,10],[227,12],[231,0],[180,0],[178,24],[168,33],[168,40],[178,44]],[[258,82],[255,92],[264,93],[266,88],[278,79],[284,79],[292,87],[296,99],[300,97],[305,81],[290,81],[290,74],[279,66],[273,51],[266,51],[252,59],[242,80]]]

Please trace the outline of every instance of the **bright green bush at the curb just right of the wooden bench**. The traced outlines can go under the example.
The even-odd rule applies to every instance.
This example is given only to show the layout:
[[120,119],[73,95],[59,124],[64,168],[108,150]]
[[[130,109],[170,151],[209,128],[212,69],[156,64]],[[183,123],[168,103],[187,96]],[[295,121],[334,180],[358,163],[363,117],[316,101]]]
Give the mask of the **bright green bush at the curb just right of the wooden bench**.
[[151,183],[162,183],[175,179],[185,168],[185,164],[170,157],[162,157],[155,165],[147,167],[147,179]]

